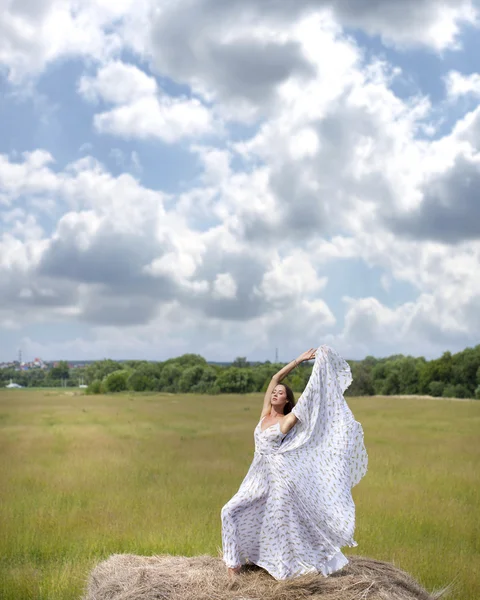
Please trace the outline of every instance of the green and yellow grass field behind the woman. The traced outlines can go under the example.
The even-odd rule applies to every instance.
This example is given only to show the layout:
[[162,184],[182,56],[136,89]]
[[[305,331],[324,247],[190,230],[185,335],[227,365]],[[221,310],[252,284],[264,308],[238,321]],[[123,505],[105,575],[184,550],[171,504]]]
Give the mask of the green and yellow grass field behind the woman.
[[[75,394],[75,395],[74,395]],[[261,396],[0,391],[0,598],[78,600],[112,553],[217,555]],[[359,554],[480,598],[480,402],[349,398]]]

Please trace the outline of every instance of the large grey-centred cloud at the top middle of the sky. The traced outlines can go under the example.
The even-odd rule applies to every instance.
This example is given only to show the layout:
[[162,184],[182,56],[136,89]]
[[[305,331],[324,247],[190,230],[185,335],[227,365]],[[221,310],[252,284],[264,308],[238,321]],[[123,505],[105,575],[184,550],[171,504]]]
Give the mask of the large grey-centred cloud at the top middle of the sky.
[[249,119],[274,100],[280,84],[307,76],[311,67],[296,40],[281,39],[275,31],[257,32],[249,19],[233,26],[236,11],[227,12],[220,9],[212,19],[201,2],[162,8],[146,51],[159,72],[222,101],[229,115]]

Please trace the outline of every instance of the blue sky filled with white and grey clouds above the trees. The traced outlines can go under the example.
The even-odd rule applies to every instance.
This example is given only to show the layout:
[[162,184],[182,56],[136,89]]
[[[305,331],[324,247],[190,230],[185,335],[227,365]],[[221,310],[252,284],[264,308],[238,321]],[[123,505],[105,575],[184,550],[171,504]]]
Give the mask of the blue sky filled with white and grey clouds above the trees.
[[0,10],[0,361],[480,343],[478,0]]

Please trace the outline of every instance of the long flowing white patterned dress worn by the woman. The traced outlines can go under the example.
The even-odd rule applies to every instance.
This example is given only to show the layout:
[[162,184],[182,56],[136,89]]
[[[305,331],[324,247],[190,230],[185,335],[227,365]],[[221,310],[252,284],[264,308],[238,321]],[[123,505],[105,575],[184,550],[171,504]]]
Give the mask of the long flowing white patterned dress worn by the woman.
[[358,545],[351,488],[368,464],[362,426],[343,397],[351,381],[348,363],[320,346],[294,427],[283,434],[279,423],[257,424],[252,464],[221,511],[228,567],[250,562],[280,580],[348,563],[341,547]]

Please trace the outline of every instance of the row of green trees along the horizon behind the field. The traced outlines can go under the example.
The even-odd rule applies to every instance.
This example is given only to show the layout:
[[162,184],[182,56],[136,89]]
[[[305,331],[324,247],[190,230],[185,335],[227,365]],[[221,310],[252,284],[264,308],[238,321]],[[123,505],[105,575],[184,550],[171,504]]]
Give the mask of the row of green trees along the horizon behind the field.
[[[402,354],[386,358],[367,356],[348,361],[353,382],[347,396],[427,394],[480,399],[480,345],[456,354],[445,352],[427,361]],[[0,385],[10,379],[26,387],[88,385],[89,394],[122,391],[220,394],[262,392],[282,364],[248,362],[238,357],[229,365],[208,363],[197,354],[184,354],[163,362],[101,360],[85,367],[69,368],[65,361],[42,370],[0,370]],[[299,365],[284,381],[302,392],[312,364]]]

